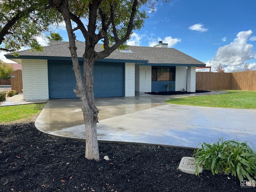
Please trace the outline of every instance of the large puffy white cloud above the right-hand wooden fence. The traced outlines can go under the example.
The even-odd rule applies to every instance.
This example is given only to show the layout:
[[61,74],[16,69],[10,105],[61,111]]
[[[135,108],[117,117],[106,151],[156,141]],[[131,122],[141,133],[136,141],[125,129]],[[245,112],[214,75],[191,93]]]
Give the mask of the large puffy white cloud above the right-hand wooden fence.
[[[214,72],[221,63],[225,72],[241,71],[247,60],[256,58],[256,53],[252,51],[252,44],[247,44],[252,30],[241,31],[236,38],[228,45],[218,48],[216,55],[207,63],[212,66]],[[254,68],[255,65],[249,65]]]

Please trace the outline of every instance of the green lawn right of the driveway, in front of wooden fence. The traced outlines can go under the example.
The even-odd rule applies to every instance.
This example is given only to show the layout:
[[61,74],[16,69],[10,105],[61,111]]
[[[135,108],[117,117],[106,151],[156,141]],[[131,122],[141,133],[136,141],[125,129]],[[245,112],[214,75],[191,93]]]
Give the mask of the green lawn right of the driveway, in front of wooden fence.
[[256,92],[227,90],[226,94],[177,98],[165,102],[178,105],[256,109]]

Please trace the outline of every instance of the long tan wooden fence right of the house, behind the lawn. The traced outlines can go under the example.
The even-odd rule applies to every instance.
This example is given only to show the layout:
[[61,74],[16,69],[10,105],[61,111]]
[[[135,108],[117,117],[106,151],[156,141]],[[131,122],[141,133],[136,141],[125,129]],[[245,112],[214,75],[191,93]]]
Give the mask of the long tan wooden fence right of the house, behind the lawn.
[[196,90],[256,91],[256,71],[196,72]]

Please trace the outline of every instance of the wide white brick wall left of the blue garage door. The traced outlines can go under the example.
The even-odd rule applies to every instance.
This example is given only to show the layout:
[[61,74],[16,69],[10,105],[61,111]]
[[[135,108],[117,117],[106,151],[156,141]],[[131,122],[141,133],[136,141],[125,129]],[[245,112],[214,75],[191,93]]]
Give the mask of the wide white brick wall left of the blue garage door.
[[22,59],[21,64],[24,100],[49,99],[47,60]]

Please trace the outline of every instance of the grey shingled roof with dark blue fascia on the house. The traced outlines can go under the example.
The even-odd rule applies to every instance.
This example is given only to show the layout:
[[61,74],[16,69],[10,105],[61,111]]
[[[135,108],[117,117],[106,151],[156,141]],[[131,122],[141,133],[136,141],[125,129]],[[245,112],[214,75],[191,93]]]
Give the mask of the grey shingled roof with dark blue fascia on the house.
[[[82,60],[84,54],[85,43],[76,41],[78,58]],[[102,44],[95,46],[95,51],[102,51]],[[31,52],[30,50],[22,50],[19,52],[18,58],[33,58],[33,59],[55,59],[67,60],[70,59],[70,50],[68,49],[69,42],[50,41],[49,46],[44,47],[43,52]],[[128,51],[122,52],[115,50],[110,56],[100,61],[111,62],[134,62],[140,65],[161,65],[161,66],[205,66],[203,62],[184,54],[174,48],[159,48],[159,47],[143,47],[129,46]],[[130,50],[130,51],[129,51]],[[15,59],[12,53],[6,54],[6,58]]]

